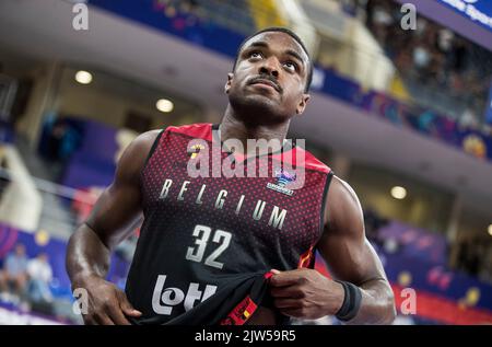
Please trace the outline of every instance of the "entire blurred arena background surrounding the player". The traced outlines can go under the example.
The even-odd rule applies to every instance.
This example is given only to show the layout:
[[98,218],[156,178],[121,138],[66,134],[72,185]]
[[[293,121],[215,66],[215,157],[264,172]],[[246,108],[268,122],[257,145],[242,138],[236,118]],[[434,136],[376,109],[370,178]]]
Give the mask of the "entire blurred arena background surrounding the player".
[[[90,0],[89,30],[73,27],[77,2],[0,0],[0,324],[82,322],[66,243],[121,150],[219,122],[238,44],[271,25],[316,61],[290,137],[358,192],[395,324],[492,323],[491,1],[407,1],[414,30],[403,1]],[[121,288],[137,240],[113,257]]]

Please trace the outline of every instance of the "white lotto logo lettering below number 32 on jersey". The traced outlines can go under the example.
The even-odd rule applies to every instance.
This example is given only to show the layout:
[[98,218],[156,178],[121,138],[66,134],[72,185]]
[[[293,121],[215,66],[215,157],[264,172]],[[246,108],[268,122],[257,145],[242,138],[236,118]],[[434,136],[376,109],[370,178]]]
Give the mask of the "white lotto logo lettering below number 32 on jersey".
[[209,299],[216,291],[216,286],[207,285],[204,289],[200,290],[200,284],[191,282],[185,294],[179,288],[164,288],[166,278],[166,275],[157,276],[152,296],[152,309],[157,314],[171,315],[173,308],[178,304],[184,304],[185,311],[189,311],[198,302]]

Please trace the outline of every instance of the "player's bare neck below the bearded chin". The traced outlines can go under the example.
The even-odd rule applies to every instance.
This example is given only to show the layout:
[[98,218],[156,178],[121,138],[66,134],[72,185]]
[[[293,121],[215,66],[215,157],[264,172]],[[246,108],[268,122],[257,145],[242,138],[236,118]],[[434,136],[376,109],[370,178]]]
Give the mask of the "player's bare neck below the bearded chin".
[[247,139],[266,139],[267,141],[277,139],[282,143],[290,125],[290,120],[279,124],[253,124],[243,119],[247,117],[238,117],[232,106],[227,105],[220,126],[221,140],[237,139],[246,144]]

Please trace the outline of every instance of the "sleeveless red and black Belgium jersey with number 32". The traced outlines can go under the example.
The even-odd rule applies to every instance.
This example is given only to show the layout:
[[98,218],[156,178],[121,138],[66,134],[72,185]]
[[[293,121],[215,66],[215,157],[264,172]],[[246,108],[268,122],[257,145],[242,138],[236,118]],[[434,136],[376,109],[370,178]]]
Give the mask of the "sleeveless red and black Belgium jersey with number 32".
[[[149,153],[126,287],[143,313],[136,324],[242,324],[265,303],[270,269],[314,265],[330,169],[290,142],[246,159],[213,148],[218,126],[195,124],[161,131]],[[304,184],[295,187],[298,158]],[[245,175],[213,174],[226,160]],[[192,177],[190,164],[210,174]],[[267,176],[248,176],[262,165]]]

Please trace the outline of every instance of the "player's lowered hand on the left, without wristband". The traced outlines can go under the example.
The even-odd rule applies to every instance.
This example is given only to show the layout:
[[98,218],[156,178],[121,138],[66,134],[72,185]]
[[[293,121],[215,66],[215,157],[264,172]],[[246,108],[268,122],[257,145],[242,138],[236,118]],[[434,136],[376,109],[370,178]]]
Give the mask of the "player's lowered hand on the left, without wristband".
[[98,276],[89,276],[74,284],[73,288],[87,291],[87,313],[82,314],[86,325],[130,325],[127,316],[139,317],[125,292]]

